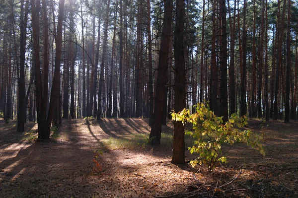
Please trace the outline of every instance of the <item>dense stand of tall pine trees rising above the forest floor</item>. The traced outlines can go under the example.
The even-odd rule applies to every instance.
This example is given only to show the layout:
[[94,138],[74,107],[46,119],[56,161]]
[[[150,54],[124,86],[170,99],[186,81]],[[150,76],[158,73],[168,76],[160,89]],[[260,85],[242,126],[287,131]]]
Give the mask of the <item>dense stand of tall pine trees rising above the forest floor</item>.
[[[235,112],[298,117],[296,1],[4,0],[0,7],[0,110],[18,120],[17,131],[37,121],[39,137],[49,138],[61,118],[144,117],[159,144],[172,109],[203,101],[224,121]],[[174,149],[184,147],[183,131],[175,123]]]

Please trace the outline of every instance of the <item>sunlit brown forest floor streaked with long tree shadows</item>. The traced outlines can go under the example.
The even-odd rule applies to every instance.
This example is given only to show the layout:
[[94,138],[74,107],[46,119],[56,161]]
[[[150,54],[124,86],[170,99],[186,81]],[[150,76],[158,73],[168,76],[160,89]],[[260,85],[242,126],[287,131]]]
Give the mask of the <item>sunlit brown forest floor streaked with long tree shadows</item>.
[[[247,127],[264,134],[266,156],[237,144],[227,164],[209,173],[205,166],[170,163],[171,121],[162,128],[161,145],[152,147],[143,119],[63,120],[49,140],[36,139],[35,123],[19,133],[15,121],[1,120],[0,198],[186,198],[191,191],[197,197],[298,198],[298,121],[249,120]],[[186,145],[191,141],[187,137]],[[193,158],[186,151],[186,160]],[[222,185],[229,189],[214,188]]]

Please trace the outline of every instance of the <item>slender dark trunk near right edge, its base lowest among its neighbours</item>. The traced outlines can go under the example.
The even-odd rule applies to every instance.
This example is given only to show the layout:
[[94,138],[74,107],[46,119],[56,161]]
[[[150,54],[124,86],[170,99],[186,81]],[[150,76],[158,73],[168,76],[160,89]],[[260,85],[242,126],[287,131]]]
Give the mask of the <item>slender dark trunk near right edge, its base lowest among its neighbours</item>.
[[285,123],[290,122],[290,72],[291,67],[291,0],[288,0],[288,21],[287,21],[287,74],[286,74],[286,101],[285,101]]

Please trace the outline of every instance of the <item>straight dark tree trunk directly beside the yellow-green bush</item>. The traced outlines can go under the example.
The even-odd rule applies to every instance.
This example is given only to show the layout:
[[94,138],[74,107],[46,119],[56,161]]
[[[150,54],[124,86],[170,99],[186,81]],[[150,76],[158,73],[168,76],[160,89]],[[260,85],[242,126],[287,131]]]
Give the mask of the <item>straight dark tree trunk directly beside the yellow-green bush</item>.
[[[185,60],[184,60],[184,0],[176,0],[176,22],[174,30],[174,57],[175,57],[175,112],[180,112],[185,107]],[[184,125],[174,122],[173,164],[185,163]]]

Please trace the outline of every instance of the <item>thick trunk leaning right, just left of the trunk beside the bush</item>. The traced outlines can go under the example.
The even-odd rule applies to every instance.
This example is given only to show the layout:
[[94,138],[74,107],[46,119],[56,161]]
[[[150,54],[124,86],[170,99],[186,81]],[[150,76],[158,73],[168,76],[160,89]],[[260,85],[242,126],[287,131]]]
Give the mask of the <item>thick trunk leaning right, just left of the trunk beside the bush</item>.
[[[171,38],[171,23],[172,23],[172,11],[173,2],[172,0],[166,0],[164,2],[164,18],[163,18],[163,29],[160,38],[160,49],[159,59],[157,68],[157,84],[155,92],[155,105],[153,112],[153,121],[149,138],[152,145],[160,144],[161,135],[161,124],[163,107],[165,103],[165,84],[166,84],[166,67],[168,66],[168,54]],[[184,58],[184,57],[183,57]]]

